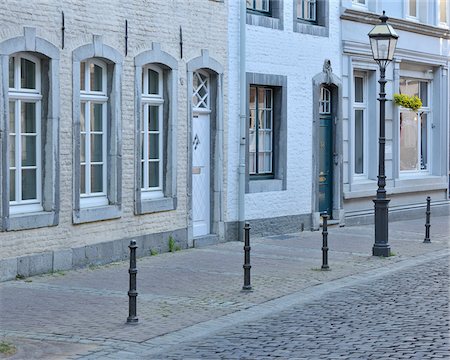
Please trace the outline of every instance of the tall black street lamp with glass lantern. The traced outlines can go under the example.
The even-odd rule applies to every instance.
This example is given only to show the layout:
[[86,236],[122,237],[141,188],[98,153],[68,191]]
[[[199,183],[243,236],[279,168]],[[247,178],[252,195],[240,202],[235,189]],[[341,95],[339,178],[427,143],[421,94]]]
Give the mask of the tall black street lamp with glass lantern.
[[370,46],[374,60],[380,67],[380,136],[378,138],[378,190],[377,196],[373,200],[375,203],[375,244],[372,248],[374,256],[389,256],[390,246],[388,244],[388,206],[389,199],[386,198],[386,175],[384,170],[385,160],[385,73],[386,66],[394,57],[395,46],[398,35],[391,25],[387,24],[388,17],[383,11],[380,16],[381,23],[369,32]]

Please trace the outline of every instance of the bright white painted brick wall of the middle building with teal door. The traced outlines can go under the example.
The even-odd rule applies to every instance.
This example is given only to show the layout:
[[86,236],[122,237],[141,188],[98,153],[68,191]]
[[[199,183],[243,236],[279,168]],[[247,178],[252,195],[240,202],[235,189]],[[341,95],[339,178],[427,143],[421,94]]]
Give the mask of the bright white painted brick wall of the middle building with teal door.
[[[340,77],[339,1],[329,1],[329,37],[293,32],[293,2],[283,1],[284,30],[247,25],[246,71],[287,76],[287,190],[245,195],[246,219],[311,212],[312,78],[330,59]],[[232,14],[237,14],[232,16]],[[227,221],[238,218],[239,1],[229,2],[229,107]],[[317,106],[317,105],[315,105]],[[235,110],[237,109],[237,110]]]

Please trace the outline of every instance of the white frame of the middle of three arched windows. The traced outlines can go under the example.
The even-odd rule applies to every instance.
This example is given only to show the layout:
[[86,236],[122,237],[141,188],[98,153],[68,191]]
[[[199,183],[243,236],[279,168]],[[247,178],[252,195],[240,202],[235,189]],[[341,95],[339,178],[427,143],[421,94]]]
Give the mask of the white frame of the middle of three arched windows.
[[[80,121],[81,121],[81,106],[85,106],[85,172],[84,174],[81,172],[81,158],[80,158],[80,178],[85,176],[85,193],[81,193],[80,188],[80,207],[95,207],[95,206],[103,206],[108,205],[108,196],[107,196],[107,168],[108,168],[108,156],[107,156],[107,138],[108,138],[108,121],[107,121],[107,104],[108,104],[108,96],[107,96],[107,66],[106,64],[98,59],[87,59],[85,61],[80,62],[80,71],[81,64],[84,63],[84,75],[85,81],[85,89],[80,90]],[[90,66],[97,65],[102,69],[102,91],[91,91],[90,89]],[[81,84],[80,84],[81,89]],[[90,160],[90,135],[92,131],[90,130],[90,109],[91,104],[102,104],[102,192],[91,192],[91,160]],[[99,132],[95,132],[99,133]],[[80,132],[81,138],[81,132]],[[80,141],[81,146],[81,141]],[[80,149],[81,152],[81,149]],[[81,184],[81,181],[80,181]]]

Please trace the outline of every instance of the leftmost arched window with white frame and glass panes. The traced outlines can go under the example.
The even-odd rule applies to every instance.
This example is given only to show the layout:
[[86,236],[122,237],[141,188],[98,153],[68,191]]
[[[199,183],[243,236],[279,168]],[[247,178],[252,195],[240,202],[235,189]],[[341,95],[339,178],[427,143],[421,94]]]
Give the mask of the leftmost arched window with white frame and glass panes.
[[42,211],[40,60],[9,57],[10,214]]

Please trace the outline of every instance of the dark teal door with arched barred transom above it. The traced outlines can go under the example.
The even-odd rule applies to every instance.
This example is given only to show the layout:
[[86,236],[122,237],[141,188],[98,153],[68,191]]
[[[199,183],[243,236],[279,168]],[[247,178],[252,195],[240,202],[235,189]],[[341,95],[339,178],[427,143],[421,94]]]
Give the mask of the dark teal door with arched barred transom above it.
[[319,211],[332,214],[333,203],[333,121],[331,91],[322,86],[319,101]]

